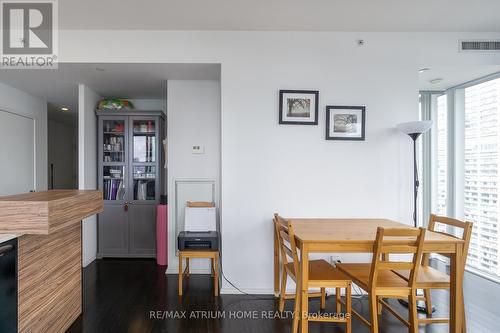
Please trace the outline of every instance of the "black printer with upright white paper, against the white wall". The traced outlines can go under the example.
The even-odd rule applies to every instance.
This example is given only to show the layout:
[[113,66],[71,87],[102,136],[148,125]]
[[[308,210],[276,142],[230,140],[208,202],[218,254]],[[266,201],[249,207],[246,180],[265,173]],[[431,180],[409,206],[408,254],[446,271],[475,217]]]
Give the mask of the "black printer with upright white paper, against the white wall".
[[184,231],[177,236],[179,251],[218,250],[216,215],[213,203],[188,201],[184,214]]

